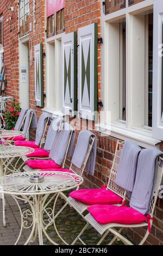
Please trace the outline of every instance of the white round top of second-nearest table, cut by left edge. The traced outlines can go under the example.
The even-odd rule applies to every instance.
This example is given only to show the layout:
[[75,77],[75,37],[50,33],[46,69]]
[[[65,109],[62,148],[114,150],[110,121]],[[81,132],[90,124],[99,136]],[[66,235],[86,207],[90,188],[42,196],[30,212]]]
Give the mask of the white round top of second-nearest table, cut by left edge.
[[9,158],[9,157],[20,157],[20,156],[25,156],[28,154],[33,153],[35,150],[33,148],[29,147],[20,147],[20,146],[14,146],[14,145],[9,145],[5,146],[0,145],[0,159],[3,158]]

